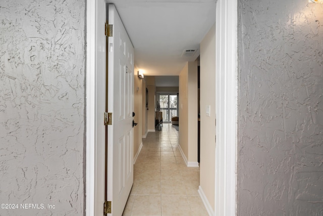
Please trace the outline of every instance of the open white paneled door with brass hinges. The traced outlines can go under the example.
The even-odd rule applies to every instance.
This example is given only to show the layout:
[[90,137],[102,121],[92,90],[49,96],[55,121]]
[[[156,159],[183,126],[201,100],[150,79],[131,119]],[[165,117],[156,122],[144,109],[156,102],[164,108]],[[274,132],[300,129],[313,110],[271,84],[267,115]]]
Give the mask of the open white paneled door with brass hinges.
[[134,48],[114,5],[109,4],[108,112],[112,125],[107,126],[107,201],[112,214],[121,216],[133,184],[133,94]]

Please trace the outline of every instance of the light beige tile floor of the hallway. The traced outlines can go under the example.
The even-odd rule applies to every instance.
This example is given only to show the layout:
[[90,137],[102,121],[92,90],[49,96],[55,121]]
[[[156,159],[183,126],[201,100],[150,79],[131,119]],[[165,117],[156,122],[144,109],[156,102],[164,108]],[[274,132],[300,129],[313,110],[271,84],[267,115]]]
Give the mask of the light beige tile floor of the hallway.
[[172,124],[149,132],[134,165],[134,183],[124,216],[207,216],[197,192],[199,167],[187,167]]

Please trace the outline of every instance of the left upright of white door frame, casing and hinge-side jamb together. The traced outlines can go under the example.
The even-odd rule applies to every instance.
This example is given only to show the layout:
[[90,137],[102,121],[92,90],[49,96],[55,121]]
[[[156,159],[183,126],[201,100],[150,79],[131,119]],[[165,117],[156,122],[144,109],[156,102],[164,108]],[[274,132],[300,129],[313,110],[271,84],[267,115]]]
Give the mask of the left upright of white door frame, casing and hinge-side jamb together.
[[[102,125],[102,113],[98,113],[98,71],[105,71],[105,1],[86,0],[86,183],[85,214],[103,214],[104,202],[104,145],[98,145],[98,126]],[[102,32],[103,34],[99,34]],[[104,44],[104,45],[103,45]],[[105,75],[104,75],[105,76]],[[100,121],[98,120],[100,119]]]

